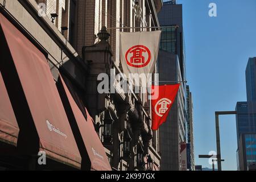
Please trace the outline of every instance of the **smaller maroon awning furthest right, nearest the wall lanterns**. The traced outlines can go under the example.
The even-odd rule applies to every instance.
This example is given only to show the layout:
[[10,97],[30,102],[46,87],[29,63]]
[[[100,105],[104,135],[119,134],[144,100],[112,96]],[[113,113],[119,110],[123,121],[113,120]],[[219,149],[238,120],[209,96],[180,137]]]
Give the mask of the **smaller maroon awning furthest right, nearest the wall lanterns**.
[[[63,78],[59,76],[57,87],[66,113],[68,114],[69,122],[77,141],[77,146],[79,146],[80,154],[82,156],[82,169],[111,171],[112,168],[106,156],[104,146],[94,130],[92,117],[90,117],[85,107],[80,108],[77,105],[75,100],[77,101],[79,98],[77,97],[75,90],[72,89],[71,83],[67,82],[67,84],[69,85],[71,92]],[[85,114],[83,114],[81,110],[85,111]],[[85,117],[87,119],[85,119]],[[89,167],[88,164],[90,164]]]

